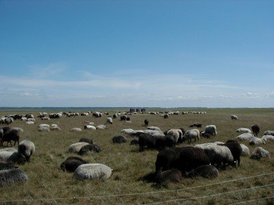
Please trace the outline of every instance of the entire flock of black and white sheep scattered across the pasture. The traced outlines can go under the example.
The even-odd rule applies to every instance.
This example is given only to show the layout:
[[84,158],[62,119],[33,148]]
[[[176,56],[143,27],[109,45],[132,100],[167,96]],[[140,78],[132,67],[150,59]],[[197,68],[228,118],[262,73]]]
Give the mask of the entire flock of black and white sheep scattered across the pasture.
[[[40,120],[50,120],[51,118],[67,118],[79,115],[89,115],[86,113],[39,113]],[[169,115],[178,115],[179,112],[145,112],[147,114],[159,114],[163,118],[169,118]],[[206,112],[182,112],[185,114],[206,114]],[[108,124],[113,124],[114,119],[120,116],[120,120],[131,123],[129,115],[137,114],[136,111],[129,113],[117,112],[110,116],[109,113],[104,113],[107,118],[105,124],[94,126],[93,122],[85,122],[84,129],[101,130],[105,129]],[[102,118],[104,115],[100,112],[92,113],[94,118]],[[167,117],[166,117],[167,116]],[[238,120],[236,115],[231,115],[232,120]],[[18,182],[27,181],[27,174],[21,169],[18,169],[15,164],[25,163],[30,161],[32,154],[35,152],[35,145],[32,141],[27,139],[20,141],[20,133],[22,128],[10,127],[14,120],[22,120],[26,124],[35,124],[34,115],[7,115],[0,118],[1,124],[5,124],[0,128],[0,145],[7,148],[0,149],[0,186],[3,184],[14,184]],[[44,121],[45,122],[45,121]],[[216,136],[217,128],[215,125],[207,125],[203,131],[197,128],[203,127],[203,124],[195,122],[190,125],[189,130],[184,128],[171,128],[166,131],[161,131],[157,126],[149,126],[149,120],[144,120],[145,130],[134,130],[132,128],[125,128],[121,130],[121,135],[112,138],[113,143],[125,143],[128,137],[132,137],[130,144],[138,145],[139,151],[143,152],[146,149],[156,149],[159,151],[155,159],[155,175],[153,180],[155,182],[163,182],[169,180],[177,182],[183,177],[202,176],[206,178],[214,178],[219,176],[219,170],[231,165],[233,167],[240,166],[240,157],[243,155],[249,156],[249,148],[240,141],[249,141],[250,145],[260,145],[266,141],[274,141],[274,131],[265,131],[262,138],[258,137],[260,133],[260,126],[254,124],[249,128],[238,128],[239,133],[236,139],[230,139],[225,142],[216,141],[214,143],[199,144],[200,137],[211,138]],[[196,128],[194,128],[196,127]],[[60,131],[61,128],[57,124],[38,125],[38,131]],[[73,132],[81,132],[82,128],[71,128]],[[190,145],[194,139],[195,146]],[[12,141],[14,143],[12,144]],[[5,144],[6,143],[6,144]],[[18,145],[17,148],[13,146]],[[12,146],[8,148],[8,145]],[[178,146],[179,145],[179,146]],[[73,172],[73,177],[77,180],[84,179],[99,179],[110,178],[112,169],[107,165],[100,163],[88,163],[80,156],[88,152],[101,152],[100,146],[94,143],[91,138],[82,138],[79,141],[71,144],[68,148],[69,152],[77,153],[79,156],[69,156],[61,163],[60,169],[66,172]],[[261,159],[262,157],[270,157],[267,150],[262,147],[256,147],[251,159]]]

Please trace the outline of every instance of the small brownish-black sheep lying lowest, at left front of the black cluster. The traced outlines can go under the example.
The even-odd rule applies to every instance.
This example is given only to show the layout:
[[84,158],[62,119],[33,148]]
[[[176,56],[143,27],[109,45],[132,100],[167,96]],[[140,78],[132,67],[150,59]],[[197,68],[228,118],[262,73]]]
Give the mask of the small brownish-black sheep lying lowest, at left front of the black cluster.
[[182,173],[179,171],[179,169],[169,169],[164,172],[159,172],[155,176],[154,181],[157,184],[162,184],[164,182],[179,182],[182,179]]

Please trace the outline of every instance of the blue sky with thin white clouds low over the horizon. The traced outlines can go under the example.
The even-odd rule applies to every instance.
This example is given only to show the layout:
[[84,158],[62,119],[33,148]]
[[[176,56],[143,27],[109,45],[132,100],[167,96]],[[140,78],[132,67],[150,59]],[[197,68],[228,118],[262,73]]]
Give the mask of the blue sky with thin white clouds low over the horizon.
[[274,1],[0,1],[0,107],[273,107]]

